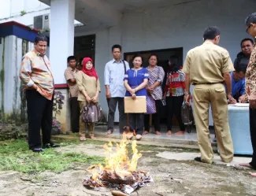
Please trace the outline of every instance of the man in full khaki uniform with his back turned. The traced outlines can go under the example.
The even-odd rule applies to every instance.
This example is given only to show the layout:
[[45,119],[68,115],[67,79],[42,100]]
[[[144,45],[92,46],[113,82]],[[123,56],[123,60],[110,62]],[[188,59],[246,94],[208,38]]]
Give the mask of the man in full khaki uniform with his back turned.
[[[217,145],[221,160],[231,162],[233,159],[233,144],[228,125],[228,102],[233,102],[231,76],[234,71],[228,51],[217,46],[220,41],[220,30],[217,27],[207,28],[203,34],[204,43],[188,51],[184,62],[186,73],[185,100],[189,105],[190,85],[195,85],[194,109],[195,125],[198,135],[198,146],[202,157],[195,161],[211,164],[213,149],[210,142],[209,107],[213,113]],[[227,94],[224,88],[227,87]]]

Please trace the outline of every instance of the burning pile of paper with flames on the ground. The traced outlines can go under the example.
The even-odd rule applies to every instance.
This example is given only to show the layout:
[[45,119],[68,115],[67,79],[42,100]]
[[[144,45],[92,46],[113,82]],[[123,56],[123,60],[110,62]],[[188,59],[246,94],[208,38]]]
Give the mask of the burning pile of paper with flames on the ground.
[[84,179],[83,186],[95,188],[109,187],[131,194],[144,183],[153,182],[147,172],[136,171],[139,158],[142,156],[137,150],[136,141],[132,142],[132,160],[128,158],[128,135],[124,133],[120,144],[114,147],[112,142],[104,145],[106,150],[106,166],[92,165],[87,168],[92,176]]

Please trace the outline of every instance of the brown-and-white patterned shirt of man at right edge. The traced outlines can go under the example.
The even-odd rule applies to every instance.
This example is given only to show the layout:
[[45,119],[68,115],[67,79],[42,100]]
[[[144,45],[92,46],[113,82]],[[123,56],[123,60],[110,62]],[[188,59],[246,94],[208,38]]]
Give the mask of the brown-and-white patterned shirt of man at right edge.
[[[256,41],[256,40],[255,40]],[[250,61],[246,73],[246,92],[249,100],[256,99],[256,44],[250,54]]]

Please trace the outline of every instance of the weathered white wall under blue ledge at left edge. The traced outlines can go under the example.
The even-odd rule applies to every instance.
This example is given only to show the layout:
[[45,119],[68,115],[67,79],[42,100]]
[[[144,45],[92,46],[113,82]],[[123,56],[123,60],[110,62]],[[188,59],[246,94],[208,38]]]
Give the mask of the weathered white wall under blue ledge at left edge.
[[[22,39],[14,35],[1,38],[0,44],[0,110],[4,110],[6,117],[20,114],[21,89],[20,89],[20,65],[22,54],[33,49],[28,42],[28,48],[24,51]],[[4,79],[2,78],[4,76]],[[2,105],[3,104],[3,105]],[[2,108],[3,106],[3,108]]]

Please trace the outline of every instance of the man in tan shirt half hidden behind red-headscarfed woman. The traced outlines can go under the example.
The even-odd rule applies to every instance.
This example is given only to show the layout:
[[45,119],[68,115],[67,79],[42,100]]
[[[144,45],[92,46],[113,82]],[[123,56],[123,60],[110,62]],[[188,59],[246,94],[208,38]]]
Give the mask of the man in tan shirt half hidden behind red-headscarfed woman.
[[80,108],[77,101],[78,87],[76,84],[76,57],[68,57],[69,67],[65,70],[64,76],[69,86],[69,106],[71,116],[71,129],[72,132],[79,132]]

